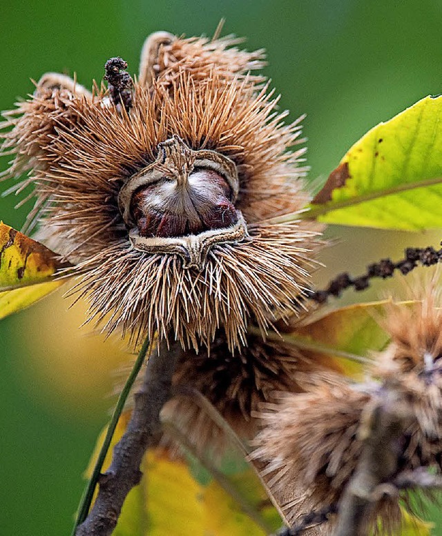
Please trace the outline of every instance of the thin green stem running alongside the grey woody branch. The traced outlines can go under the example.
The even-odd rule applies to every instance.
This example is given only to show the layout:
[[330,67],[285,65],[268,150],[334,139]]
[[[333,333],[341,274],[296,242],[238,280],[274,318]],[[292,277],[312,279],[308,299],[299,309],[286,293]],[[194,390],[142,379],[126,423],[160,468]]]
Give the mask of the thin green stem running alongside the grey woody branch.
[[98,455],[95,467],[93,469],[93,473],[81,497],[81,501],[80,501],[79,508],[78,508],[77,519],[75,520],[75,526],[74,526],[73,533],[71,536],[75,536],[77,527],[81,525],[81,523],[83,523],[86,517],[88,516],[90,504],[92,503],[92,499],[93,499],[93,495],[95,491],[95,487],[97,486],[99,475],[102,472],[104,459],[106,458],[106,454],[108,453],[109,446],[111,445],[112,437],[115,433],[115,428],[117,427],[119,417],[121,417],[122,415],[124,404],[126,404],[126,399],[129,393],[131,392],[131,388],[133,386],[135,379],[137,379],[138,373],[140,373],[140,370],[144,364],[144,359],[146,357],[146,354],[148,353],[150,346],[151,346],[151,343],[149,339],[147,338],[143,343],[143,346],[140,350],[140,353],[138,354],[135,364],[133,365],[131,374],[128,376],[128,379],[126,379],[126,384],[124,384],[123,390],[118,397],[117,405],[115,406],[115,409],[113,410],[111,422],[109,423],[109,426],[106,432],[106,437],[104,438],[103,446],[99,451],[99,455]]

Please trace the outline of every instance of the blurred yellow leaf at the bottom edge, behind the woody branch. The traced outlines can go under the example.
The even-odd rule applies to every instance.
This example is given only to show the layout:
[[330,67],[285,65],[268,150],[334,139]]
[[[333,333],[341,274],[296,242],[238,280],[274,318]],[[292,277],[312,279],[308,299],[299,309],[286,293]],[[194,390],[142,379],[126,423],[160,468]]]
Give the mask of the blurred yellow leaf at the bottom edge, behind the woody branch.
[[[124,434],[128,419],[130,412],[119,419],[103,470],[111,464],[112,449]],[[93,471],[105,433],[97,440],[86,477]],[[186,459],[152,448],[141,469],[142,480],[128,494],[114,536],[265,536],[265,530],[215,479],[199,482]],[[244,499],[242,505],[247,503],[266,526],[278,528],[282,524],[251,468],[228,478]]]

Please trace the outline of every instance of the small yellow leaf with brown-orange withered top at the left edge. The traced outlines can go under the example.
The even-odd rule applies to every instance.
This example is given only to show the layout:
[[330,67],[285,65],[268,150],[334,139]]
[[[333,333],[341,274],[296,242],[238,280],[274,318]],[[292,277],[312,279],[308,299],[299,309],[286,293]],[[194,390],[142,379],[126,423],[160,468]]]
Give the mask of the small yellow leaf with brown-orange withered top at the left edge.
[[43,244],[0,221],[0,319],[63,284],[52,277],[61,266]]

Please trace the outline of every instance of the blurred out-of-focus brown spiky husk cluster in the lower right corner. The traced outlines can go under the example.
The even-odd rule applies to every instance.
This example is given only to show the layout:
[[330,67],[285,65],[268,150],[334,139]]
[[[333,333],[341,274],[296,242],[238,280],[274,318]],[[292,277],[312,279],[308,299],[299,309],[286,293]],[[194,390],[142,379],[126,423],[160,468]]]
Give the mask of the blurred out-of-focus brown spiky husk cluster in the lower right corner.
[[[441,471],[442,312],[435,307],[434,292],[410,306],[389,306],[384,325],[392,342],[371,370],[377,381],[351,384],[322,375],[315,385],[310,377],[309,392],[282,394],[277,404],[262,411],[254,456],[266,464],[274,493],[284,493],[291,523],[338,504],[363,448],[358,428],[364,408],[385,387],[407,397],[412,416],[403,433],[397,474],[418,467]],[[411,508],[406,490],[401,497]],[[371,519],[373,530],[390,532],[400,522],[398,499],[383,498]],[[329,525],[323,528],[324,533],[331,530]]]

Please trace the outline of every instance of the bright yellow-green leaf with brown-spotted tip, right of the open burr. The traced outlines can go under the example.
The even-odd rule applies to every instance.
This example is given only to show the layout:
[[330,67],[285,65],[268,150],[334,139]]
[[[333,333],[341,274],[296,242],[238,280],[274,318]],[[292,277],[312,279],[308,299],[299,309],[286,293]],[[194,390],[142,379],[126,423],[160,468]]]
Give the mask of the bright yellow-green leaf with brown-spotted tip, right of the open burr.
[[442,97],[425,97],[369,130],[304,217],[404,230],[442,227]]

